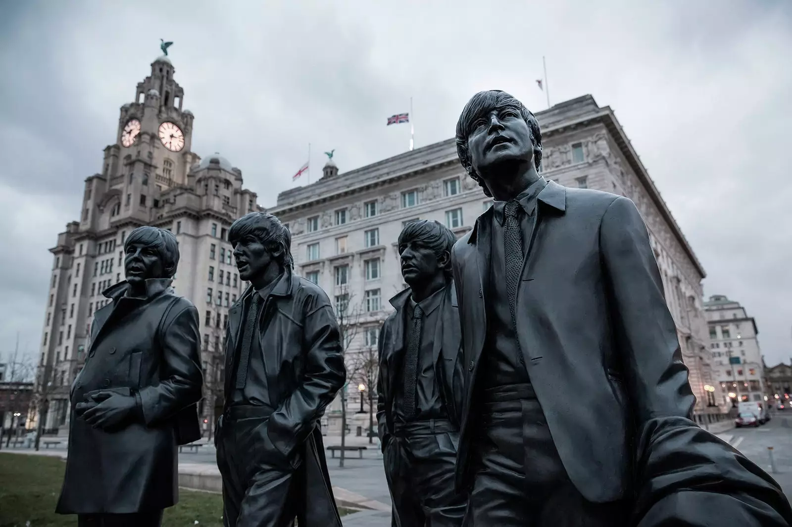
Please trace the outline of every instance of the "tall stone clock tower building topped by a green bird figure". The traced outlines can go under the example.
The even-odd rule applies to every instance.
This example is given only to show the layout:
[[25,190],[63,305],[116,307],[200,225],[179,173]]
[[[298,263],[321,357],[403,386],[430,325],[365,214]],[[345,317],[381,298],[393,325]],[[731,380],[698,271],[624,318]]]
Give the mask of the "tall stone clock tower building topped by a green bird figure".
[[37,396],[47,401],[44,430],[67,425],[69,390],[88,351],[93,313],[109,300],[102,291],[124,277],[124,239],[138,226],[173,232],[181,260],[173,287],[201,318],[205,388],[201,414],[211,427],[222,392],[220,349],[228,307],[243,290],[231,257],[231,222],[259,210],[242,188],[242,171],[219,154],[190,150],[193,115],[168,57],[151,63],[120,108],[118,130],[105,147],[101,173],[86,178],[79,221],[59,233],[44,313]]

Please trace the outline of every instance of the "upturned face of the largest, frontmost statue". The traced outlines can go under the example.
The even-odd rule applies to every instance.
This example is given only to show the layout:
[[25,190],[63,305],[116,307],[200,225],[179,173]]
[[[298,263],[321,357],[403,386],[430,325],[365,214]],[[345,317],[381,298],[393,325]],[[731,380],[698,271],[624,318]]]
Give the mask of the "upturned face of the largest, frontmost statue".
[[467,138],[470,161],[482,177],[503,162],[532,161],[531,131],[517,108],[497,108],[478,117]]

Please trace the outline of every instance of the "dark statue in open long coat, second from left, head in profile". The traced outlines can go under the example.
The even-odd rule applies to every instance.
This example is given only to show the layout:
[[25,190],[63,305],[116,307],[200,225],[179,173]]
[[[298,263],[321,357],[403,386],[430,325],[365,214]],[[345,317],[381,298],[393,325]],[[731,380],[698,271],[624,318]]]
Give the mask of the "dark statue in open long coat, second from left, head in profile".
[[235,221],[239,277],[229,311],[215,445],[226,527],[341,527],[319,419],[346,370],[325,292],[291,272],[291,234],[270,214]]

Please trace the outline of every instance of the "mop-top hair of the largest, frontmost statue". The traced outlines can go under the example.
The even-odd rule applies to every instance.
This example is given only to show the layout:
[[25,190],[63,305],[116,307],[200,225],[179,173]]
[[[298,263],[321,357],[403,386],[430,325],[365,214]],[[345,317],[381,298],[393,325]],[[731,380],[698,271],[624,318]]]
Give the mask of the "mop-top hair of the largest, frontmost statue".
[[528,125],[528,131],[531,133],[531,143],[534,146],[534,165],[537,172],[542,165],[542,131],[539,130],[539,121],[536,120],[528,108],[525,108],[523,103],[516,100],[514,97],[500,89],[490,89],[485,92],[478,92],[465,104],[462,113],[459,115],[459,121],[456,123],[456,153],[459,156],[459,162],[462,164],[470,176],[484,191],[485,195],[492,197],[489,189],[486,187],[482,176],[476,173],[473,168],[473,161],[470,157],[470,150],[467,148],[467,138],[474,131],[474,123],[486,116],[489,112],[496,109],[511,108],[520,112],[525,123]]

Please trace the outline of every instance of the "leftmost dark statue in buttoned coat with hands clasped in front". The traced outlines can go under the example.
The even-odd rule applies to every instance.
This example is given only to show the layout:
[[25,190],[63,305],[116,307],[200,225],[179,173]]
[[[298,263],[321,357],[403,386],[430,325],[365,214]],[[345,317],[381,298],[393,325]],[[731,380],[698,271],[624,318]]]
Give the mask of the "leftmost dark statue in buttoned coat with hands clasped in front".
[[170,286],[176,237],[143,226],[124,242],[126,280],[102,294],[71,387],[66,476],[56,508],[80,527],[156,527],[178,499],[177,445],[200,438],[196,307]]

